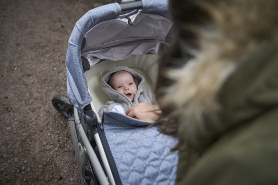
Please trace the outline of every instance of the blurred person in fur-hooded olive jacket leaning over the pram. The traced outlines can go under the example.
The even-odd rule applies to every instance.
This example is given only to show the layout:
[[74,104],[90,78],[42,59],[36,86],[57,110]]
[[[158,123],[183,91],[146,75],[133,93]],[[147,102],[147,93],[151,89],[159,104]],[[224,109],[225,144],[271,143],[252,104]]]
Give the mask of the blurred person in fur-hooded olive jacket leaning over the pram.
[[156,97],[179,138],[176,184],[278,184],[278,1],[169,6],[178,34]]

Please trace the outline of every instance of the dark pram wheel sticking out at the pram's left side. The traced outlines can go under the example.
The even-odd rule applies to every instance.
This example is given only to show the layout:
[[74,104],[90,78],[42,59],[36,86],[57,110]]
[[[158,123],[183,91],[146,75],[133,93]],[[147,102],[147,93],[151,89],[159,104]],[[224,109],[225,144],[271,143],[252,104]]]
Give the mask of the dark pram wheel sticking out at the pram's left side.
[[67,96],[60,94],[55,95],[51,102],[55,109],[63,116],[71,117],[73,115],[73,105]]

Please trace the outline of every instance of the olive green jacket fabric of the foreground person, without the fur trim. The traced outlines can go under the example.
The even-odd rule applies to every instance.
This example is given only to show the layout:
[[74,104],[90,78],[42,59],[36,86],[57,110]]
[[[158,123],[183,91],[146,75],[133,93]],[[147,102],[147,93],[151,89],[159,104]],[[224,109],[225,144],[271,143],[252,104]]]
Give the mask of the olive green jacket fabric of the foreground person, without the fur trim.
[[179,129],[176,184],[277,185],[278,38],[250,52],[219,89],[217,99],[223,127],[202,155],[188,153],[188,138]]

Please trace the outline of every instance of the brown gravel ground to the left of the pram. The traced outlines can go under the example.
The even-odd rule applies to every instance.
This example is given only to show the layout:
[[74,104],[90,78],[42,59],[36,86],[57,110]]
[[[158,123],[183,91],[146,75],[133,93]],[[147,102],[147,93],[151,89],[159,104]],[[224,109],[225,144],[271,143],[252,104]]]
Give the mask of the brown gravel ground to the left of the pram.
[[[116,1],[116,0],[114,0]],[[65,57],[75,22],[112,0],[0,1],[0,184],[80,184],[67,118]]]

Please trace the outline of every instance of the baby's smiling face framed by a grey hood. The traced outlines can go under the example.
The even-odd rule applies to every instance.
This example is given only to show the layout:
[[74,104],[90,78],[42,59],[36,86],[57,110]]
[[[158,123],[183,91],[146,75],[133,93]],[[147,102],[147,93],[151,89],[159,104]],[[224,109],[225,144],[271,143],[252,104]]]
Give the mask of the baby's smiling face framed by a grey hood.
[[110,82],[113,89],[125,94],[131,101],[134,101],[134,96],[137,92],[137,85],[133,76],[129,72],[119,71],[114,73]]

